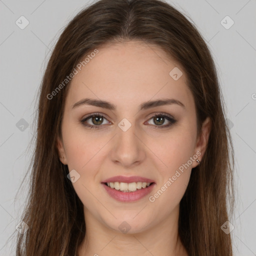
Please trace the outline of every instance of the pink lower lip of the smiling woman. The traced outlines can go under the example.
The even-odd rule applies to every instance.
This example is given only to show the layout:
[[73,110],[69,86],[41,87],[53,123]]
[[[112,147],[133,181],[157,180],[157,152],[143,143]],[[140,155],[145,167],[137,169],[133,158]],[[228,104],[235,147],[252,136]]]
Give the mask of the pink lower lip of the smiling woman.
[[104,183],[102,183],[102,185],[106,189],[107,193],[115,200],[121,201],[121,202],[133,202],[133,201],[137,201],[137,200],[141,199],[142,197],[146,196],[147,194],[149,194],[152,191],[155,183],[152,183],[151,185],[149,185],[145,188],[137,189],[133,192],[122,192],[120,190],[111,188],[111,187],[105,185]]

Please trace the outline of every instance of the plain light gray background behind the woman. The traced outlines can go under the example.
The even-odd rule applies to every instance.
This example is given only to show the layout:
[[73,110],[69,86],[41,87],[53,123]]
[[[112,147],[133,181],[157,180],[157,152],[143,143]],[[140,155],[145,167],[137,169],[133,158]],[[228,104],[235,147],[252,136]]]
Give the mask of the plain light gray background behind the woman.
[[[0,0],[0,255],[14,255],[15,243],[8,237],[17,232],[27,192],[26,184],[16,196],[33,147],[43,70],[62,28],[90,2]],[[168,2],[193,20],[216,62],[235,149],[234,255],[256,255],[256,0]],[[29,21],[24,29],[15,24],[21,15]],[[229,29],[223,25],[230,19],[221,23],[226,15],[234,21]],[[21,118],[28,127],[20,126]]]

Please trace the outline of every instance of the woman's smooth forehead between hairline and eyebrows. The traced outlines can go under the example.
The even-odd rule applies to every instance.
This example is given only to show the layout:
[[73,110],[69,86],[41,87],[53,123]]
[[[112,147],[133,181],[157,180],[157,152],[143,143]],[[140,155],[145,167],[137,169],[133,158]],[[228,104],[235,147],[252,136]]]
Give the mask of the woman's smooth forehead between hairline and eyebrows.
[[[162,97],[176,98],[187,106],[192,103],[183,68],[160,47],[128,41],[97,49],[69,84],[66,102],[70,106],[83,97],[110,101],[120,108]],[[182,75],[173,79],[171,70]]]

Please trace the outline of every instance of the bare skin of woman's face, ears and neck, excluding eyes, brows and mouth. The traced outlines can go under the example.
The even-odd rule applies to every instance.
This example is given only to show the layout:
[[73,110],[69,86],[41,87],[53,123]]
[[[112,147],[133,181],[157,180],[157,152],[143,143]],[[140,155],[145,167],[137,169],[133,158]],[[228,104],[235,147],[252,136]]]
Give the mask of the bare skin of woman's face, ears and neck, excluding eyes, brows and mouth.
[[[202,135],[196,137],[195,105],[185,72],[159,47],[127,41],[98,50],[71,80],[62,137],[56,143],[62,163],[80,174],[72,185],[84,205],[86,235],[77,255],[188,255],[178,236],[179,202],[198,163],[192,161],[155,201],[150,202],[148,196],[155,194],[196,152],[200,152],[201,160],[210,121],[204,121]],[[169,75],[174,67],[183,72],[178,80]],[[109,101],[116,109],[86,104],[72,109],[85,97]],[[177,99],[184,107],[169,104],[138,111],[140,103],[160,98]],[[98,129],[80,122],[93,112],[105,118]],[[176,122],[159,128],[151,115],[161,112]],[[126,131],[118,127],[123,118],[131,124]],[[92,121],[89,118],[86,122],[97,124]],[[169,121],[160,123],[164,126]],[[119,202],[101,184],[115,175],[147,177],[156,184],[138,201]],[[123,221],[130,226],[127,233],[118,228]]]

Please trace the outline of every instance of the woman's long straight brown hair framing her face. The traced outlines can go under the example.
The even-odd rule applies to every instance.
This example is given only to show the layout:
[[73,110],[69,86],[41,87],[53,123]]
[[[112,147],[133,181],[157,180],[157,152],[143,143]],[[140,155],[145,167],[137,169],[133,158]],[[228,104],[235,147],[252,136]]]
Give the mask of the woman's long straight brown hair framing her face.
[[230,234],[220,227],[233,212],[233,147],[216,69],[196,27],[160,0],[99,0],[81,10],[61,33],[40,86],[29,197],[22,215],[29,229],[18,233],[16,253],[75,255],[84,238],[83,205],[56,149],[69,82],[51,98],[49,94],[85,54],[124,40],[157,45],[174,58],[188,77],[198,135],[203,120],[211,120],[207,149],[180,201],[178,232],[190,256],[231,256]]

